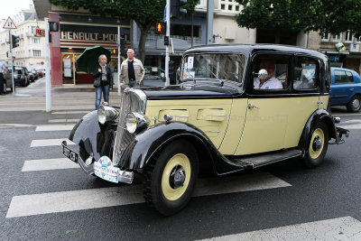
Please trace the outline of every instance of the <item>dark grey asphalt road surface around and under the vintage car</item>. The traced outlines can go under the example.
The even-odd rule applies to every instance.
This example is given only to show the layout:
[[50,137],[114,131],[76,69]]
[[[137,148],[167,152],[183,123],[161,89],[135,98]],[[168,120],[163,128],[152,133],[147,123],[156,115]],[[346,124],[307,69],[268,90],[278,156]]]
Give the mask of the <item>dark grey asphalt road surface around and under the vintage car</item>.
[[[333,108],[333,112],[341,116],[341,125],[350,127],[351,134],[346,144],[329,145],[326,161],[318,168],[306,169],[300,160],[292,159],[255,171],[200,180],[215,186],[227,183],[224,188],[229,189],[236,189],[238,183],[247,182],[245,188],[249,190],[214,194],[210,186],[209,193],[192,198],[186,209],[167,218],[149,209],[143,202],[92,209],[87,204],[91,199],[87,200],[88,196],[82,195],[76,195],[73,202],[74,205],[84,205],[84,209],[60,211],[57,207],[65,202],[65,198],[55,199],[52,196],[60,191],[66,197],[72,191],[121,186],[122,189],[130,188],[122,195],[132,193],[139,199],[142,199],[142,192],[136,186],[125,187],[87,176],[79,168],[23,171],[26,161],[63,157],[60,145],[31,146],[34,140],[67,138],[69,130],[37,131],[37,126],[54,125],[50,122],[54,119],[60,120],[56,125],[73,125],[73,120],[84,114],[1,112],[0,239],[190,240],[333,218],[352,217],[361,221],[361,113],[350,115],[342,107]],[[272,181],[286,185],[272,188],[268,185]],[[263,189],[253,189],[252,185],[263,185]],[[43,194],[48,196],[44,198]],[[19,202],[19,197],[24,201]],[[30,197],[32,201],[27,199]],[[36,202],[42,198],[48,200],[43,209],[49,206],[53,210],[35,215],[19,211],[32,212]],[[16,201],[20,206],[14,212],[20,212],[20,216],[8,217]],[[103,201],[106,202],[106,197]],[[347,229],[338,231],[338,239],[356,240],[347,232]],[[295,239],[304,240],[302,236]]]

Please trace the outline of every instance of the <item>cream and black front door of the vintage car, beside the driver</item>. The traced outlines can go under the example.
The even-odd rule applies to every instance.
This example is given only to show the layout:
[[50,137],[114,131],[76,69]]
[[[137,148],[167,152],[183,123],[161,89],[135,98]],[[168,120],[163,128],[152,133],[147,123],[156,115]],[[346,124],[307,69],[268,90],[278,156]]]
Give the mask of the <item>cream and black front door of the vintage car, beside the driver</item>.
[[[273,61],[274,70],[271,68],[270,71],[273,71],[275,79],[283,81],[282,88],[279,88],[279,83],[273,85],[267,82],[260,87],[261,84],[258,84],[257,80],[253,78],[252,73],[260,70],[264,60]],[[290,109],[290,103],[287,101],[290,94],[287,79],[289,79],[291,62],[292,55],[261,53],[253,58],[252,70],[248,74],[247,80],[249,95],[246,104],[245,125],[236,155],[282,149]],[[254,86],[255,83],[258,86]]]

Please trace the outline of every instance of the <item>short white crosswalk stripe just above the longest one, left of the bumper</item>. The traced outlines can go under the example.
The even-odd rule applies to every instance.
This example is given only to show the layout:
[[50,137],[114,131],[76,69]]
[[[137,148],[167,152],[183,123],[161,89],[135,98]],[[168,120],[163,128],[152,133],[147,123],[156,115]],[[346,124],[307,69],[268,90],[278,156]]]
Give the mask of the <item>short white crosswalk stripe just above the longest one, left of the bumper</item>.
[[75,162],[71,162],[68,158],[54,158],[26,160],[23,163],[22,171],[44,171],[69,168],[79,168],[79,165]]

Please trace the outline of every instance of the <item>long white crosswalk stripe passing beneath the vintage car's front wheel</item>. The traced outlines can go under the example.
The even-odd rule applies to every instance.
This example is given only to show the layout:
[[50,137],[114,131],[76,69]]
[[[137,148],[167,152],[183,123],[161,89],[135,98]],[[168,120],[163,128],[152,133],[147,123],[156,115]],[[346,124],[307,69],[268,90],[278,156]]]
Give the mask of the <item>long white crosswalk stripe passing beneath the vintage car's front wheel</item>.
[[[249,190],[265,190],[292,186],[269,173],[237,175],[199,180],[193,196],[208,196]],[[141,203],[142,185],[114,188],[70,190],[14,196],[6,218],[97,209]]]

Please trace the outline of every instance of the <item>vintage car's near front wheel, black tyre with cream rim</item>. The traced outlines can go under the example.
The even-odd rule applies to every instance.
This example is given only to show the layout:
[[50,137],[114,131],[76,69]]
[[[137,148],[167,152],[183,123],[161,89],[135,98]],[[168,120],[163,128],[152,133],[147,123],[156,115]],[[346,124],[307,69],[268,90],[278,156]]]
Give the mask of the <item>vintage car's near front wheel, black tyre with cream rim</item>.
[[154,209],[170,216],[183,209],[190,200],[198,176],[198,156],[185,141],[168,144],[145,168],[143,195]]

